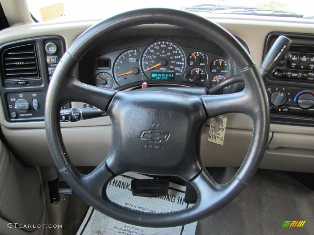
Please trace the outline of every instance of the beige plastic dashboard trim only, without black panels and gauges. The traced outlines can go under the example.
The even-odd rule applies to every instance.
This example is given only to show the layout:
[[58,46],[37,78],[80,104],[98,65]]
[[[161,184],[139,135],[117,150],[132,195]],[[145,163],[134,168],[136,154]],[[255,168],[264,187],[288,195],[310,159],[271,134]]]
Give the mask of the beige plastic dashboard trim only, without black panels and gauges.
[[[267,20],[261,17],[242,19],[237,16],[222,18],[218,15],[210,20],[241,38],[258,66],[261,65],[265,39],[269,33],[314,33],[314,24],[310,20],[290,21],[277,17]],[[18,25],[0,32],[0,44],[34,36],[59,35],[65,39],[68,48],[84,30],[95,23],[97,22],[84,21]],[[79,107],[79,104],[73,106]],[[226,116],[228,123],[223,146],[209,143],[208,126],[203,128],[201,157],[205,166],[240,166],[246,155],[252,135],[250,118],[235,113]],[[3,108],[0,108],[0,124],[8,143],[24,163],[39,167],[54,165],[46,141],[44,122],[9,123],[5,119]],[[98,165],[110,148],[110,118],[62,123],[62,135],[75,165]],[[314,172],[314,128],[271,124],[268,141],[261,168]]]

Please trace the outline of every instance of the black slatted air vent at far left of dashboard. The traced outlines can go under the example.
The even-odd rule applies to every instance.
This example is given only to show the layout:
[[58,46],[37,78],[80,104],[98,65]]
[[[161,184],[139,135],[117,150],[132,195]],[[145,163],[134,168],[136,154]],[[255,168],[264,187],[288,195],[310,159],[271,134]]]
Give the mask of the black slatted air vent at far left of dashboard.
[[4,79],[39,78],[35,44],[24,44],[4,50],[2,54]]

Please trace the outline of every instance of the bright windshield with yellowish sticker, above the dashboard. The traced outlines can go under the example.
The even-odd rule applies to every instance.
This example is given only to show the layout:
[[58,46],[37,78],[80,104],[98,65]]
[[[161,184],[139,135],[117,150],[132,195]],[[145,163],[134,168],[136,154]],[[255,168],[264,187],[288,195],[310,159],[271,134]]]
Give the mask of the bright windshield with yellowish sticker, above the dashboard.
[[313,0],[159,0],[159,1],[75,1],[75,0],[27,0],[31,14],[38,21],[91,20],[138,8],[175,8],[191,12],[250,14],[312,18]]

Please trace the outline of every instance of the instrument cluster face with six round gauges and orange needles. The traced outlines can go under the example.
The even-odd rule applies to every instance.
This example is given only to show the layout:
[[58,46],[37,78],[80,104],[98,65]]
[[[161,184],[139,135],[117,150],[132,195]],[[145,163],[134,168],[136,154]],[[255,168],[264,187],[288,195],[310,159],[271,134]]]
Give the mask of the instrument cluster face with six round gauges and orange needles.
[[[180,45],[169,39],[115,50],[96,58],[92,85],[116,89],[154,81],[213,87],[235,74],[232,59],[226,53],[213,51]],[[234,87],[229,86],[222,93],[233,91]]]

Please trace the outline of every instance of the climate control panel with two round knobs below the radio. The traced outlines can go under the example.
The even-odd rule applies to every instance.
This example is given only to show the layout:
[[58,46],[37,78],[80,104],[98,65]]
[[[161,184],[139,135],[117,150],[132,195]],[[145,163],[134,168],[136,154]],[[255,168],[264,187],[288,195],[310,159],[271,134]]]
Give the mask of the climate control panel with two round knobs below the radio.
[[314,114],[314,89],[266,86],[271,112]]

